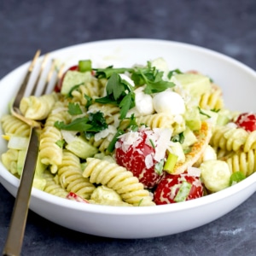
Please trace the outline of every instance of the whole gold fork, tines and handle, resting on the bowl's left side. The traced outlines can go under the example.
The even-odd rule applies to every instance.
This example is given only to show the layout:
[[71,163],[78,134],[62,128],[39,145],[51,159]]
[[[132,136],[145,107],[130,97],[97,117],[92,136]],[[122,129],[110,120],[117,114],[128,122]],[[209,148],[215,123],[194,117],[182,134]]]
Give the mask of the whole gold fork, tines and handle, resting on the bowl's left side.
[[[29,208],[29,201],[32,191],[32,182],[34,177],[34,172],[38,160],[38,130],[41,128],[41,124],[38,121],[32,119],[26,119],[20,113],[20,101],[25,95],[27,84],[29,83],[33,72],[35,71],[36,62],[40,55],[40,50],[36,52],[34,58],[28,68],[26,77],[23,83],[20,86],[20,90],[15,96],[15,101],[13,102],[11,113],[18,119],[22,120],[26,124],[30,125],[31,133],[29,145],[26,152],[26,160],[23,167],[23,172],[20,177],[20,186],[15,199],[15,206],[12,212],[9,233],[7,240],[5,242],[5,247],[3,248],[3,255],[20,255],[25,227],[26,227],[26,218]],[[42,74],[44,72],[45,65],[47,64],[49,55],[44,55],[44,60],[41,63],[40,70],[37,73],[36,82],[33,84],[32,92],[30,95],[33,95],[36,92],[39,80],[42,79]],[[41,94],[45,93],[49,80],[52,79],[52,75],[55,68],[55,62],[51,61],[51,66],[45,83],[43,84],[44,88]]]

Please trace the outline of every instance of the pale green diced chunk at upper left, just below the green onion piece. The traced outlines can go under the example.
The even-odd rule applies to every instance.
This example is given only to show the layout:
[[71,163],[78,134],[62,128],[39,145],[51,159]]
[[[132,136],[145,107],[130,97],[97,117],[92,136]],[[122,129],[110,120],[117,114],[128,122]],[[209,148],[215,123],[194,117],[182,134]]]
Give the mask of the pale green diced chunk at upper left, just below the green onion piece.
[[67,95],[73,86],[84,84],[86,82],[90,82],[91,74],[90,72],[81,73],[79,71],[67,71],[65,77],[63,79],[61,94]]

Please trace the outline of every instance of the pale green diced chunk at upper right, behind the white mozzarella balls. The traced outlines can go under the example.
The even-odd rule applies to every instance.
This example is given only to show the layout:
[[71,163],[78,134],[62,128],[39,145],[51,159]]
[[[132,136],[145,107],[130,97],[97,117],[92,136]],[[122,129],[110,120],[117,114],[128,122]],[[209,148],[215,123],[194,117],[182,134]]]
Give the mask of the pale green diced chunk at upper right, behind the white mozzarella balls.
[[174,76],[191,96],[201,96],[211,90],[211,81],[207,76],[199,73],[177,73]]

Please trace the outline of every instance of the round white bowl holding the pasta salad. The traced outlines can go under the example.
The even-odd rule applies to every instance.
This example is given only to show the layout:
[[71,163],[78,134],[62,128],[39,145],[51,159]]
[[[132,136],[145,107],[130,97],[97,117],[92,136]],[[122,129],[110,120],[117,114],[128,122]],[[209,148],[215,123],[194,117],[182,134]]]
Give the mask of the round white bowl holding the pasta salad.
[[[228,56],[209,49],[154,39],[116,39],[79,44],[51,53],[67,61],[79,59],[93,63],[130,67],[163,57],[170,69],[198,70],[209,75],[224,91],[225,105],[232,110],[256,111],[256,73]],[[26,73],[28,63],[18,67],[0,82],[0,115],[7,113],[8,103]],[[0,143],[0,154],[6,143]],[[0,164],[1,183],[12,195],[19,180]],[[256,173],[241,183],[205,197],[156,207],[106,207],[68,201],[32,189],[30,208],[55,224],[91,235],[114,238],[147,238],[172,235],[191,230],[230,212],[255,191]]]

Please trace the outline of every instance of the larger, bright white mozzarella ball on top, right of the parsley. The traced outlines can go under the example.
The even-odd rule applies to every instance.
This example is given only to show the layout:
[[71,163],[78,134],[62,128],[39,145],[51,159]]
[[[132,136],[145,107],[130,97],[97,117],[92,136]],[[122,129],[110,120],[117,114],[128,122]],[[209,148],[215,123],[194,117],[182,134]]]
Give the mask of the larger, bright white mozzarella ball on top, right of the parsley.
[[185,103],[182,96],[172,90],[157,93],[153,98],[153,106],[157,113],[173,115],[185,113]]

